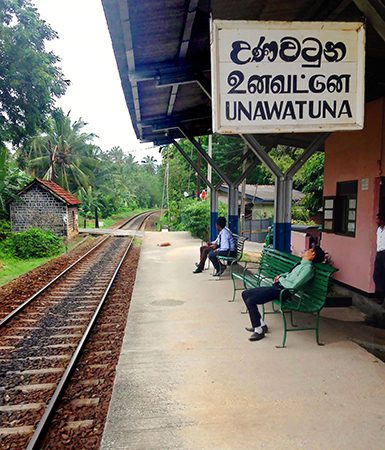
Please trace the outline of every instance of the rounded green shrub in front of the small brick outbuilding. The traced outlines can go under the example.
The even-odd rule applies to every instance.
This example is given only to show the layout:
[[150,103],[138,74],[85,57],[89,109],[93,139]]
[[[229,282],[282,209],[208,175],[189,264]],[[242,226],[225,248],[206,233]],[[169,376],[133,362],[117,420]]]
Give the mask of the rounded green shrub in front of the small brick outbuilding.
[[30,259],[57,255],[64,250],[64,246],[63,240],[52,231],[30,228],[8,236],[4,241],[3,250],[15,258]]

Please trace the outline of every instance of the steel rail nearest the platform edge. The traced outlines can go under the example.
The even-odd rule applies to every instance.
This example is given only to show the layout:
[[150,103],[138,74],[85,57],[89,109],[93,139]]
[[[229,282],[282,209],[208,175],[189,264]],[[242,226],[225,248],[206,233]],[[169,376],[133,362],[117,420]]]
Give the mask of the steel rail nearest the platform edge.
[[103,305],[108,296],[108,293],[111,290],[112,284],[115,281],[116,276],[118,275],[120,267],[123,264],[123,262],[126,258],[126,255],[131,248],[133,241],[134,241],[134,238],[131,238],[106,290],[104,291],[104,294],[96,308],[96,311],[95,311],[94,315],[92,316],[90,323],[87,326],[87,329],[85,330],[78,346],[76,347],[75,353],[73,354],[63,376],[61,377],[61,379],[59,381],[59,384],[56,387],[56,390],[55,390],[53,396],[51,397],[51,400],[49,401],[49,403],[47,405],[47,408],[44,411],[43,417],[40,419],[40,421],[36,427],[36,430],[31,438],[31,440],[28,443],[27,450],[35,450],[35,449],[40,448],[39,445],[40,445],[42,439],[44,438],[45,430],[46,430],[47,426],[49,425],[49,421],[50,421],[52,415],[54,414],[54,412],[56,411],[56,406],[58,405],[59,401],[61,400],[61,398],[63,396],[65,388],[67,387],[67,384],[68,384],[70,377],[76,367],[79,357],[82,354],[84,346],[91,334],[91,331],[95,325],[97,318],[99,317],[99,314],[103,308]]

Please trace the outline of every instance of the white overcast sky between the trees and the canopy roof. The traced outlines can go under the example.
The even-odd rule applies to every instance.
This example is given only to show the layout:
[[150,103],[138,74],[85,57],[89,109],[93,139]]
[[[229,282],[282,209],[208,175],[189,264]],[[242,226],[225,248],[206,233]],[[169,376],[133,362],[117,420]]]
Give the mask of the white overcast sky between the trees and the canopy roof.
[[82,118],[103,150],[120,146],[138,161],[145,155],[160,160],[157,149],[140,144],[131,125],[116,67],[101,0],[32,0],[42,19],[59,34],[48,48],[61,58],[71,81],[58,101],[71,118]]

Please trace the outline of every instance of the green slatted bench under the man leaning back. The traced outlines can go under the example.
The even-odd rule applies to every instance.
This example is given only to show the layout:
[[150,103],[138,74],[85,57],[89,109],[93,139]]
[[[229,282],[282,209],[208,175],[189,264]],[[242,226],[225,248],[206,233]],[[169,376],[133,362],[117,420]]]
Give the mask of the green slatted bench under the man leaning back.
[[[274,278],[277,275],[288,272],[296,264],[300,262],[300,258],[288,253],[279,252],[272,248],[265,248],[261,255],[258,270],[255,274],[247,270],[247,264],[242,272],[233,274],[234,282],[234,296],[235,298],[235,280],[242,280],[244,288],[254,288],[260,286],[271,286]],[[265,314],[280,313],[283,320],[284,333],[282,339],[282,346],[286,345],[286,338],[288,331],[303,331],[315,330],[316,340],[319,345],[322,345],[319,340],[319,315],[322,308],[325,306],[326,296],[329,288],[329,281],[331,275],[336,272],[336,268],[328,264],[315,264],[314,277],[306,283],[305,286],[298,290],[283,289],[280,292],[279,298],[273,300],[272,311],[267,312],[265,306],[262,305],[263,318]],[[238,289],[237,289],[238,290]],[[293,321],[293,312],[308,313],[315,317],[315,326],[313,327],[298,327]],[[285,313],[290,313],[290,323],[292,328],[288,328]]]

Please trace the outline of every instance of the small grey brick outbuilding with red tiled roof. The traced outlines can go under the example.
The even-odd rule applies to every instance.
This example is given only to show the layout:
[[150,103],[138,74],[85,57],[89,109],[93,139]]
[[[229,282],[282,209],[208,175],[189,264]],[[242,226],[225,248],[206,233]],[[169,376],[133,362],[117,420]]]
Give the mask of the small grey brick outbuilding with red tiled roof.
[[71,239],[78,234],[80,204],[58,184],[35,178],[10,203],[12,231],[38,227]]

